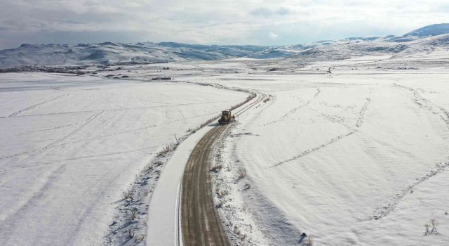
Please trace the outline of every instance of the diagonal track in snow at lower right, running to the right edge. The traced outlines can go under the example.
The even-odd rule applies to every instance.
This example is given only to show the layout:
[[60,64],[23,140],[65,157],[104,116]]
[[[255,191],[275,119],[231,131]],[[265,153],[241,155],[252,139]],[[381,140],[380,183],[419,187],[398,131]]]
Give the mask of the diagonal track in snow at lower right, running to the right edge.
[[413,193],[413,188],[420,185],[420,183],[427,181],[436,174],[439,174],[441,171],[444,171],[446,167],[449,167],[449,161],[436,163],[436,169],[431,169],[427,174],[424,174],[420,178],[415,179],[416,181],[414,183],[398,191],[396,195],[394,195],[394,197],[389,200],[388,204],[383,205],[380,209],[375,210],[374,215],[370,218],[370,220],[381,219],[393,212],[399,202],[401,202],[401,200],[406,195]]

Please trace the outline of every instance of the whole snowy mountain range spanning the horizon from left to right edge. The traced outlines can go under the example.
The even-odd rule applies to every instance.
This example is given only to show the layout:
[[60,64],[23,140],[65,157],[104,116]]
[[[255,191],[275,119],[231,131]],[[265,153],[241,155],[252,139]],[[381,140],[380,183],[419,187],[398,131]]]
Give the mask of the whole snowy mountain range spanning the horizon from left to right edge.
[[449,24],[422,27],[403,36],[349,37],[289,46],[219,46],[173,42],[120,44],[22,44],[0,51],[0,68],[30,65],[116,65],[227,58],[335,60],[378,54],[431,52],[449,47]]

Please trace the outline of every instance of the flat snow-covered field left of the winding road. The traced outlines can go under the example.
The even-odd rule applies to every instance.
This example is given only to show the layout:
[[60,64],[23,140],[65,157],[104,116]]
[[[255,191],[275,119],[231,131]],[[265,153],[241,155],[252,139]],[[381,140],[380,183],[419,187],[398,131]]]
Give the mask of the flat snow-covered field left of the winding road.
[[174,134],[247,96],[192,84],[0,75],[0,245],[100,245],[122,192]]

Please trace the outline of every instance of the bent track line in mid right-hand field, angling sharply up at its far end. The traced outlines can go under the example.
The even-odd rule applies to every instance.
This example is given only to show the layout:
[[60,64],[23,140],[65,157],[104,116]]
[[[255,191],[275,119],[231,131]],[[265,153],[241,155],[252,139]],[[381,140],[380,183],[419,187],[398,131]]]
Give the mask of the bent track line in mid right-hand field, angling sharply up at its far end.
[[358,131],[358,128],[360,128],[363,124],[363,121],[365,119],[365,115],[366,115],[366,110],[368,109],[368,105],[370,105],[371,103],[371,93],[370,96],[368,98],[366,98],[366,103],[363,105],[363,107],[361,108],[360,112],[358,112],[358,119],[357,119],[357,123],[356,123],[356,129],[353,129],[351,131],[349,131],[349,133],[347,134],[342,134],[340,136],[336,136],[335,138],[330,139],[330,141],[326,142],[326,143],[322,143],[319,146],[316,146],[314,148],[311,148],[310,150],[305,150],[302,153],[300,153],[299,155],[295,155],[294,157],[291,157],[288,160],[283,160],[281,162],[278,162],[272,166],[269,166],[268,168],[273,168],[273,167],[277,167],[281,164],[284,164],[286,162],[291,162],[293,160],[297,160],[301,157],[304,157],[305,155],[309,155],[310,153],[314,153],[316,150],[321,150],[322,148],[325,148],[327,145],[333,144],[337,141],[342,140],[343,138],[346,138],[348,136],[351,136],[352,134],[355,134]]

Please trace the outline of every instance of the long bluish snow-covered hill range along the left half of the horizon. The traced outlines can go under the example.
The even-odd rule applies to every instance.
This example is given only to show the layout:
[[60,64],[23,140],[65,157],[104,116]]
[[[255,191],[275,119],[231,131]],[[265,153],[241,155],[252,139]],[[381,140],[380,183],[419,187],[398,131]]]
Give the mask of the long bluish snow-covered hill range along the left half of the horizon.
[[147,64],[218,60],[246,56],[264,46],[202,46],[150,42],[135,44],[22,44],[0,51],[0,68],[26,65]]

